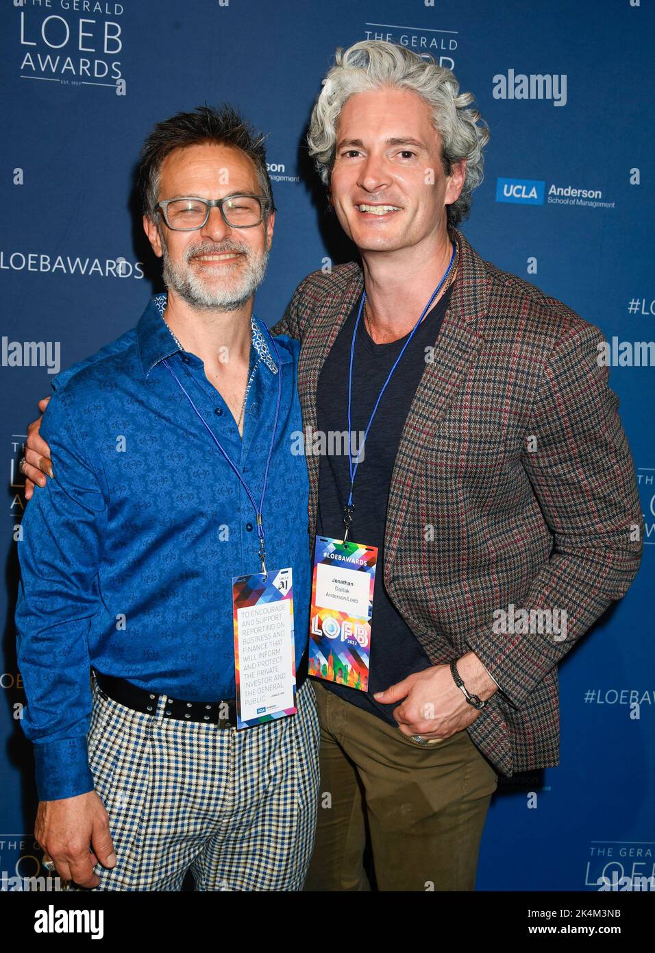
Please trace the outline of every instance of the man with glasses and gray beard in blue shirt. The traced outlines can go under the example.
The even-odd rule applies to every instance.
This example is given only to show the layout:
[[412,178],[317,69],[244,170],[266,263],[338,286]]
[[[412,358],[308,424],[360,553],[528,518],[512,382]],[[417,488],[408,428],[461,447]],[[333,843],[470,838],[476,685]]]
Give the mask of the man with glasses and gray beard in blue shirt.
[[[318,722],[308,541],[288,528],[307,526],[308,476],[298,343],[252,314],[275,218],[263,140],[229,108],[180,113],[139,184],[168,292],[57,378],[53,478],[18,546],[35,833],[83,887],[179,890],[190,869],[203,891],[300,889]],[[257,659],[279,681],[253,688]]]

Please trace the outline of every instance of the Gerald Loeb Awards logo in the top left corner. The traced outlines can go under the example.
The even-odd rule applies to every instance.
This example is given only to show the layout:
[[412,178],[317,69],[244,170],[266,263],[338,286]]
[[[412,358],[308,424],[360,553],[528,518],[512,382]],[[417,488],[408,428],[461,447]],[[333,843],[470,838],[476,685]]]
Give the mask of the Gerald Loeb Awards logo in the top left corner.
[[13,0],[13,6],[22,79],[127,94],[121,69],[124,4]]

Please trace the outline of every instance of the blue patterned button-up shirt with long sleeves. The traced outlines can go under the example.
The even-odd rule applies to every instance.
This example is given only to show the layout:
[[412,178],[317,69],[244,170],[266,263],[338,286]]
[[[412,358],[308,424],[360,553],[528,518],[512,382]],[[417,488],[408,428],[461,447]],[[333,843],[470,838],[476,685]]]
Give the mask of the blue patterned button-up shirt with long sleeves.
[[264,504],[268,570],[293,570],[296,664],[306,651],[308,475],[294,432],[299,344],[253,318],[243,440],[204,364],[180,351],[157,295],[137,328],[58,375],[41,433],[54,478],[37,487],[18,543],[18,664],[39,799],[93,789],[89,667],[157,694],[233,698],[231,578],[260,572],[255,512],[188,398],[259,502],[282,398]]

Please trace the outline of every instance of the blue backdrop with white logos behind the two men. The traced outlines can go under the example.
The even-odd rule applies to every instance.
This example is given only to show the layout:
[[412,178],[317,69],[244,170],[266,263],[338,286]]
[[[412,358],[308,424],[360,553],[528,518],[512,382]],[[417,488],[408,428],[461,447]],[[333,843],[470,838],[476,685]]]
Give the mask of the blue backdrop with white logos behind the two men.
[[334,50],[377,37],[433,52],[476,96],[491,139],[485,180],[463,227],[472,245],[565,301],[608,340],[616,337],[615,355],[621,342],[632,345],[622,349],[627,357],[611,368],[610,383],[652,539],[626,597],[561,666],[560,766],[501,784],[492,802],[478,889],[591,891],[603,873],[655,872],[655,641],[647,595],[655,556],[655,344],[642,366],[634,349],[653,338],[655,320],[648,6],[4,0],[0,439],[9,481],[0,871],[30,876],[38,868],[13,648],[13,540],[25,505],[17,461],[52,373],[132,327],[159,287],[130,204],[140,144],[155,121],[223,100],[269,133],[279,212],[255,310],[272,324],[326,255],[340,261],[352,254],[326,213],[303,136]]

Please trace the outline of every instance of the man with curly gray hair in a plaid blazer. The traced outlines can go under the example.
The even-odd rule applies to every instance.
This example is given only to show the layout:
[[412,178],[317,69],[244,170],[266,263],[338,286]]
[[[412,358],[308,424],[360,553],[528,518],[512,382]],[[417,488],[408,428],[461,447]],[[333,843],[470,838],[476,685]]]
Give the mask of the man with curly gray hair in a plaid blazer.
[[487,140],[452,72],[383,41],[337,51],[311,115],[361,263],[308,275],[273,333],[301,340],[306,429],[366,434],[366,458],[308,455],[315,561],[377,568],[367,690],[312,607],[309,890],[367,890],[367,835],[381,890],[474,889],[499,775],[558,763],[558,662],[641,558],[603,335],[457,228]]

